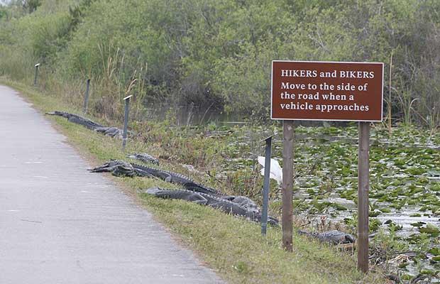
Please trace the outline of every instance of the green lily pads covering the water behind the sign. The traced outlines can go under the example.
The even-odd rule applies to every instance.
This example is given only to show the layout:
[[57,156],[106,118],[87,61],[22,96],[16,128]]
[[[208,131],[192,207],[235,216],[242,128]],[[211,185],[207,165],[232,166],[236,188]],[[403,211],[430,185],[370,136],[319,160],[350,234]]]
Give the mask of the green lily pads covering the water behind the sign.
[[[236,128],[233,141],[227,142],[240,157],[229,160],[227,168],[255,175],[257,188],[248,190],[257,200],[262,181],[252,161],[263,154],[263,145],[250,142],[263,132],[262,126]],[[295,129],[295,214],[307,219],[326,216],[356,231],[357,135],[355,126]],[[399,268],[408,275],[439,270],[438,258],[427,257],[427,251],[440,246],[440,134],[412,128],[389,134],[376,127],[370,145],[370,232],[382,228],[419,251]],[[282,164],[280,136],[273,142],[273,158]],[[271,209],[280,212],[280,188],[276,182],[271,188]]]

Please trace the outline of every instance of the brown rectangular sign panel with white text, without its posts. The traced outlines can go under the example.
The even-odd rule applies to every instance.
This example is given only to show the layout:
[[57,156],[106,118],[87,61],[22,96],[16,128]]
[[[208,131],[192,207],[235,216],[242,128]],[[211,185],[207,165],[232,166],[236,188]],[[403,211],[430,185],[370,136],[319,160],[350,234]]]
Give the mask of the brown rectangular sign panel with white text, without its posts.
[[271,118],[382,121],[383,63],[272,62]]

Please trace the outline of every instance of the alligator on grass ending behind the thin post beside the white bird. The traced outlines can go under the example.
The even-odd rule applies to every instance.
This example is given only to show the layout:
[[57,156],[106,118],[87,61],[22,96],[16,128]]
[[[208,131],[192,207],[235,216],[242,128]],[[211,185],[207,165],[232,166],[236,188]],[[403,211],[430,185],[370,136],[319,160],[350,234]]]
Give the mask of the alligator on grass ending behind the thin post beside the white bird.
[[[210,195],[203,192],[194,192],[186,189],[170,190],[162,189],[160,187],[151,187],[144,192],[148,195],[153,195],[155,197],[164,199],[186,200],[197,204],[207,205],[209,207],[219,209],[227,214],[246,217],[246,219],[249,219],[253,222],[261,222],[261,214],[259,212],[254,212],[252,209],[249,210],[238,203],[231,202],[216,195]],[[268,217],[268,224],[277,226],[278,220],[273,217]]]

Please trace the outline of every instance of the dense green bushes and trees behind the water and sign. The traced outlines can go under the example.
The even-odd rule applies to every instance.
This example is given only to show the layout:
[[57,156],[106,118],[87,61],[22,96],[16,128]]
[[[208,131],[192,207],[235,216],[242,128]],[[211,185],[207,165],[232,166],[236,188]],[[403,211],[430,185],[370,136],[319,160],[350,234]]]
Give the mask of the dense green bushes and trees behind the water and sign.
[[0,8],[0,75],[31,81],[43,62],[54,92],[92,77],[94,110],[109,116],[133,80],[139,106],[264,116],[271,60],[385,62],[395,122],[434,128],[439,11],[437,0],[12,1]]

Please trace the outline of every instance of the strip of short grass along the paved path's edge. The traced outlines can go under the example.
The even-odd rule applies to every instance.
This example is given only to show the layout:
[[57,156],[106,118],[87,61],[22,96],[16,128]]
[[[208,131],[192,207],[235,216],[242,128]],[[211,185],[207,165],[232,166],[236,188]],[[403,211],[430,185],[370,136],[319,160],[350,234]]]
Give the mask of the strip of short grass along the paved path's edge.
[[[63,110],[80,113],[57,97],[45,96],[31,87],[1,80],[17,89],[41,112]],[[67,136],[80,153],[94,163],[111,158],[124,158],[121,141],[50,116],[55,126]],[[148,147],[149,146],[149,147]],[[153,151],[157,143],[128,142],[127,152]],[[161,149],[166,151],[166,149]],[[162,161],[161,161],[162,163]],[[161,167],[175,168],[170,163]],[[269,228],[266,238],[260,236],[260,226],[231,217],[210,207],[179,200],[149,197],[139,189],[155,185],[173,187],[169,183],[148,178],[116,178],[182,242],[196,251],[207,266],[228,283],[384,283],[381,273],[363,275],[356,271],[356,258],[334,247],[309,241],[294,234],[293,253],[281,248],[281,230]]]

